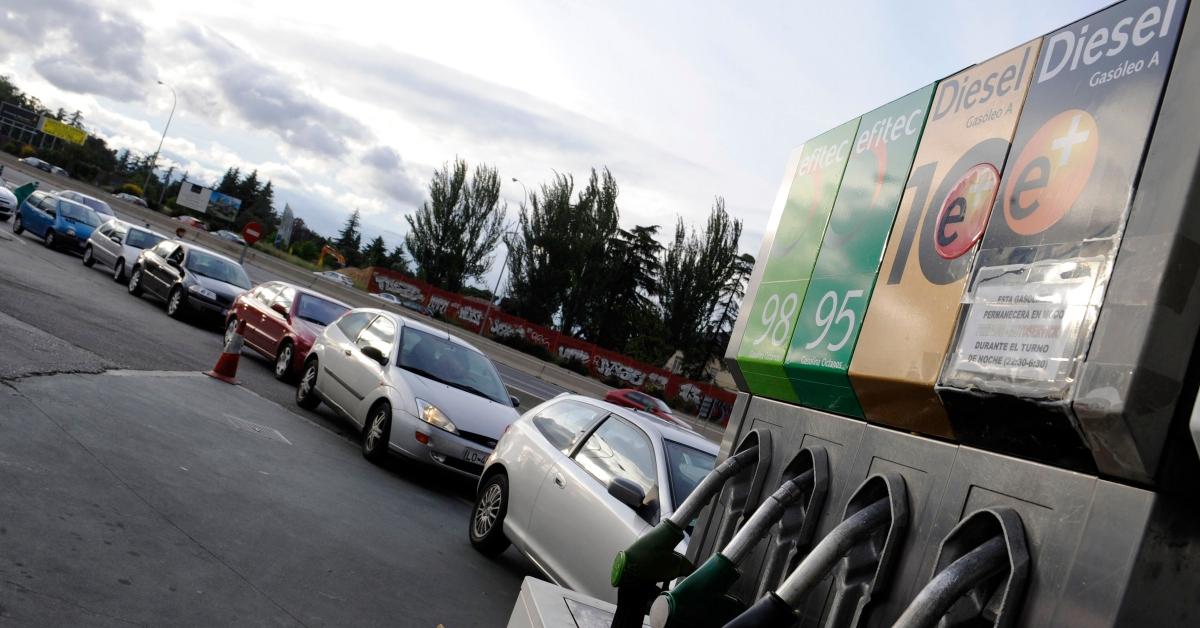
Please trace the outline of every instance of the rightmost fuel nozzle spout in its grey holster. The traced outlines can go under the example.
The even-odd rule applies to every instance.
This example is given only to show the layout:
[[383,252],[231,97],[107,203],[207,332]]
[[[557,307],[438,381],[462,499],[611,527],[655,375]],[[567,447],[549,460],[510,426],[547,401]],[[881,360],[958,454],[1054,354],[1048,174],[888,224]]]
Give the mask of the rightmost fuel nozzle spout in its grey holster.
[[1012,508],[977,510],[937,551],[934,578],[896,620],[898,628],[1012,626],[1030,566],[1025,527]]

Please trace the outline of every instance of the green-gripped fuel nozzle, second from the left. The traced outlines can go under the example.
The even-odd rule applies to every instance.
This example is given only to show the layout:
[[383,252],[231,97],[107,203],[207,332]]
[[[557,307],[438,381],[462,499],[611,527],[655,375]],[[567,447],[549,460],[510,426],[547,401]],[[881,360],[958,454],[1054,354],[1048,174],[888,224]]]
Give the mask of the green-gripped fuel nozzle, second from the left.
[[[811,456],[808,459],[811,460]],[[824,460],[823,456],[821,460]],[[826,474],[823,469],[821,471],[821,479],[824,480]],[[788,508],[806,496],[812,498],[820,494],[817,498],[823,497],[824,491],[818,491],[814,486],[816,477],[817,471],[810,466],[808,471],[781,484],[722,550],[709,557],[700,569],[683,579],[674,588],[654,600],[650,608],[650,626],[715,628],[744,611],[745,604],[727,593],[742,576],[738,566],[750,550],[770,533]],[[812,514],[811,503],[805,513]]]

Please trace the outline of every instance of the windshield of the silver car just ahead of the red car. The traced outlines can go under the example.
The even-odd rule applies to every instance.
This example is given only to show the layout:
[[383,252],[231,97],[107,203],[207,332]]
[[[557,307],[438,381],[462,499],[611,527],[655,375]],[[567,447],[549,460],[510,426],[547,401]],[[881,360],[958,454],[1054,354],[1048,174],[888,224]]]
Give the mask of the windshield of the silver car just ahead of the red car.
[[497,403],[512,403],[491,360],[462,345],[419,329],[404,328],[396,365]]

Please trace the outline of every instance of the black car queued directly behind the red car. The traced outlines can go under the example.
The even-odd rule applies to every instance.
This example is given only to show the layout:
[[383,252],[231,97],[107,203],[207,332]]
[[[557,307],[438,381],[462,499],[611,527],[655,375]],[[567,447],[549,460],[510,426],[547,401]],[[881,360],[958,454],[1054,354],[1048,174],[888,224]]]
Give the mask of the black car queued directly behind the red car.
[[223,321],[234,299],[250,287],[238,262],[179,240],[143,251],[130,269],[130,294],[145,292],[166,300],[172,318],[197,312]]

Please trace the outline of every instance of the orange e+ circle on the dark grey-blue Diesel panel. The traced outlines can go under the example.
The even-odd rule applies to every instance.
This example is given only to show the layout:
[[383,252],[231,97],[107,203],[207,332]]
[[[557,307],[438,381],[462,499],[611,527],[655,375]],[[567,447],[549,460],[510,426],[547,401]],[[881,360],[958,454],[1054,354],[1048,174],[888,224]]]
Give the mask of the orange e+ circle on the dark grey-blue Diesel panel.
[[1019,235],[1042,233],[1067,215],[1096,166],[1100,133],[1082,109],[1055,115],[1025,143],[1004,187],[1004,220]]

